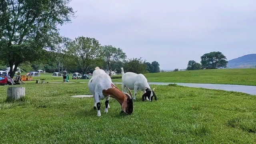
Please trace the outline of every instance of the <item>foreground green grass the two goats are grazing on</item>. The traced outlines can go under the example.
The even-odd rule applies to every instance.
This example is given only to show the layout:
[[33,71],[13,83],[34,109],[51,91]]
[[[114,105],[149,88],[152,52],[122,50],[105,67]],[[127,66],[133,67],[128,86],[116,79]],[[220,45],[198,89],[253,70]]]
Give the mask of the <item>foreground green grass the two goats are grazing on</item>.
[[90,94],[87,83],[22,86],[22,102],[6,102],[8,86],[0,87],[0,143],[256,143],[256,97],[248,94],[151,86],[157,101],[142,102],[139,92],[125,116],[113,98],[104,114],[102,100],[97,117],[93,98],[70,97]]

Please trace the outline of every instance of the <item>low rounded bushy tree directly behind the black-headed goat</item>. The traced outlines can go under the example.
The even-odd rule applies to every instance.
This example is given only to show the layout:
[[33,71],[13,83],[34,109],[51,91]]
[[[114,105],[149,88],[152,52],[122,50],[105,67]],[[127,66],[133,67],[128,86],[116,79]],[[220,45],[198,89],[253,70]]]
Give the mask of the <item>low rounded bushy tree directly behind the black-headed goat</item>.
[[124,63],[124,71],[134,72],[136,74],[146,73],[147,72],[146,60],[143,60],[142,58],[128,59],[128,61]]

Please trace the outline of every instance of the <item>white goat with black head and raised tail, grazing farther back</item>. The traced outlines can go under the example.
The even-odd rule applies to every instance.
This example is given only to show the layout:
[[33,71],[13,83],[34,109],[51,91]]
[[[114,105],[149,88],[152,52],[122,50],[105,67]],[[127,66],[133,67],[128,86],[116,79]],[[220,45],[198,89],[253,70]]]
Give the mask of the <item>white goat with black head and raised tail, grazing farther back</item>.
[[143,74],[136,74],[134,72],[126,72],[124,73],[124,69],[122,69],[122,92],[127,92],[127,88],[130,90],[134,90],[133,100],[136,100],[137,90],[143,91],[142,101],[149,100],[152,102],[153,97],[156,98],[156,94],[154,92],[155,88],[151,90],[147,78]]

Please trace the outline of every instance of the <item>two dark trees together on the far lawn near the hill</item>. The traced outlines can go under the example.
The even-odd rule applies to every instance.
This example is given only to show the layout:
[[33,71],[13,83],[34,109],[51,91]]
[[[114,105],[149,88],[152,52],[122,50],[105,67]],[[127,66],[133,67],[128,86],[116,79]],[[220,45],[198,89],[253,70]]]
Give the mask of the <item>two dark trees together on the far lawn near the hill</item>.
[[202,55],[200,63],[194,60],[188,61],[187,70],[226,68],[228,61],[226,56],[218,51]]

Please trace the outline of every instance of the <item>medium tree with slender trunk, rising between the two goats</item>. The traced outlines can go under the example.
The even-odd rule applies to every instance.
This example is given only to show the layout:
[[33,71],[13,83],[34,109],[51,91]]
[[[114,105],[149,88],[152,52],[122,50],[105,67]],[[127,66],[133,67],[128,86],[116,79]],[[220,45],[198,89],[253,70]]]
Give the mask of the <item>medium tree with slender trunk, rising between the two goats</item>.
[[126,54],[123,52],[121,48],[116,48],[111,45],[105,45],[103,48],[103,59],[108,66],[109,75],[111,75],[111,68],[116,62],[122,62],[126,58]]

